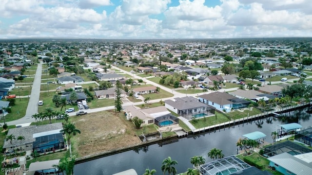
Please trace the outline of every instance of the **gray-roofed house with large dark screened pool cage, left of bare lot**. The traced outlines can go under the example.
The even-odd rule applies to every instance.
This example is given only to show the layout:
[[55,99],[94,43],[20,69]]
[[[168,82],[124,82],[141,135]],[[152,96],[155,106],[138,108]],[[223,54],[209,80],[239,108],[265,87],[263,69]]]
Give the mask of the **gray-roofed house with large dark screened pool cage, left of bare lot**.
[[[7,135],[15,136],[16,140],[4,140],[3,149],[6,153],[16,149],[37,151],[45,153],[65,148],[62,123],[51,123],[44,125],[30,125],[9,129]],[[19,136],[24,140],[17,140]]]

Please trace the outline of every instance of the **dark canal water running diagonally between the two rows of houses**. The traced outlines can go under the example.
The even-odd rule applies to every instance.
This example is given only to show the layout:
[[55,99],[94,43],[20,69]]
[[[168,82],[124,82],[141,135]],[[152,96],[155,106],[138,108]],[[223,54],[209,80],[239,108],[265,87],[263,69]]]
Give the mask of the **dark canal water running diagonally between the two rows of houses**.
[[155,169],[156,175],[161,175],[162,161],[168,156],[178,162],[175,165],[177,173],[183,173],[188,168],[192,168],[190,158],[193,156],[203,156],[206,162],[212,161],[207,155],[212,148],[221,149],[225,157],[236,155],[236,142],[239,138],[243,138],[243,134],[260,131],[267,135],[264,140],[272,143],[271,133],[280,129],[279,124],[295,122],[307,128],[312,125],[311,118],[309,108],[303,108],[287,113],[279,119],[267,117],[83,162],[75,165],[74,173],[75,175],[112,175],[133,168],[138,175],[143,175],[145,169],[149,168]]

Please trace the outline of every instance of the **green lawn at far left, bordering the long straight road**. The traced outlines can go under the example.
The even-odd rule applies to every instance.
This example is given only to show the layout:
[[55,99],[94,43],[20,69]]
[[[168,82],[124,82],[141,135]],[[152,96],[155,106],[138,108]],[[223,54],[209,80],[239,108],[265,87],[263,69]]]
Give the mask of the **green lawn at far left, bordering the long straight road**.
[[25,116],[28,105],[28,98],[16,98],[15,105],[11,107],[12,112],[5,116],[5,122],[18,120]]

